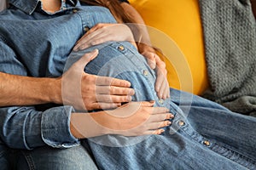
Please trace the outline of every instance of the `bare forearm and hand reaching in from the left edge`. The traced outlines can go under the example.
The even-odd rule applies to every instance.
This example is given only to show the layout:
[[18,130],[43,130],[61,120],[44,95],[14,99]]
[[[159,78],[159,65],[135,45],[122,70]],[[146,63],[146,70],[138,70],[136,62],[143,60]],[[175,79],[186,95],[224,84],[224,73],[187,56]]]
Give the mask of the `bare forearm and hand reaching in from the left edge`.
[[[79,77],[77,82],[73,81],[74,77]],[[0,82],[0,106],[64,103],[78,110],[91,111],[115,108],[122,102],[131,101],[131,95],[134,94],[130,82],[88,75],[76,66],[57,78],[25,77],[0,72]],[[69,86],[63,87],[66,82]],[[81,84],[81,91],[77,92],[78,89],[70,86],[72,83]],[[82,94],[79,102],[78,93]]]

